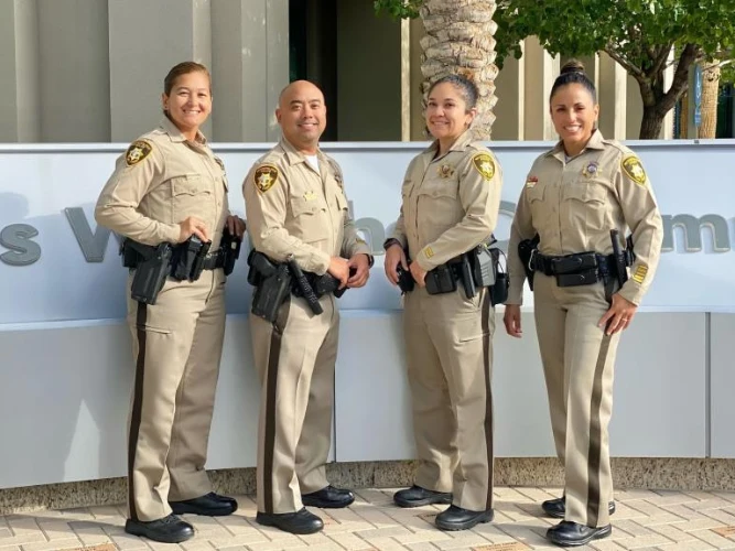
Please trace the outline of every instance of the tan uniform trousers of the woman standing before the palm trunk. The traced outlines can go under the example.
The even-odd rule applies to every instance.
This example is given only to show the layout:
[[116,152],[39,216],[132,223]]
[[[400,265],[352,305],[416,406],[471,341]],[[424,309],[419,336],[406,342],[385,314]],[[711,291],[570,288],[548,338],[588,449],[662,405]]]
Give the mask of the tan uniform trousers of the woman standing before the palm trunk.
[[406,295],[407,344],[415,484],[452,491],[463,509],[493,507],[493,333],[495,310],[487,289],[467,300],[460,288]]

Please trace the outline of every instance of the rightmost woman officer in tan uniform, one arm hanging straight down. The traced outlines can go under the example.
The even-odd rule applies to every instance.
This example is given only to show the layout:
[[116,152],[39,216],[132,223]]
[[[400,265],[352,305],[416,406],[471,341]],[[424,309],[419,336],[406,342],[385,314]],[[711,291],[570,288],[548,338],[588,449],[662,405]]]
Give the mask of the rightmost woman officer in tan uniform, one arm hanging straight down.
[[[564,519],[547,533],[553,543],[583,545],[612,532],[607,425],[615,352],[653,278],[662,224],[640,160],[595,129],[595,87],[579,62],[562,68],[550,108],[561,140],[536,160],[518,201],[504,322],[509,335],[521,336],[526,273],[518,245],[538,235],[538,253],[530,261],[533,310],[554,443],[565,473],[564,495],[542,507]],[[608,257],[610,230],[625,235],[626,227],[636,259],[619,289],[613,287],[619,273]],[[588,268],[591,258],[597,268]],[[574,262],[586,263],[585,273]]]

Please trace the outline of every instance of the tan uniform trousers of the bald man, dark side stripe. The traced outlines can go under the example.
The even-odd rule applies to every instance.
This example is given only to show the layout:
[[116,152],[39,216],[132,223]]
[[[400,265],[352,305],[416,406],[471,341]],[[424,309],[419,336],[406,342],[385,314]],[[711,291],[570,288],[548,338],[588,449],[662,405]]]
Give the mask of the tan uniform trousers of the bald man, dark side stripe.
[[332,440],[334,366],[339,312],[333,295],[314,315],[304,299],[290,296],[275,323],[250,315],[252,352],[260,376],[258,510],[300,510],[301,494],[327,486]]

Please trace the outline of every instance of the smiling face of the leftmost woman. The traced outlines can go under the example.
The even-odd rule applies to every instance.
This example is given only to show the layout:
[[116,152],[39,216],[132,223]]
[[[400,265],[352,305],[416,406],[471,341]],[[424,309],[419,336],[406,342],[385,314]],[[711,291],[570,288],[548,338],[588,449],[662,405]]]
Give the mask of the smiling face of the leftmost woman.
[[171,87],[171,94],[164,93],[161,100],[176,128],[188,140],[194,140],[212,112],[209,77],[201,71],[181,75]]

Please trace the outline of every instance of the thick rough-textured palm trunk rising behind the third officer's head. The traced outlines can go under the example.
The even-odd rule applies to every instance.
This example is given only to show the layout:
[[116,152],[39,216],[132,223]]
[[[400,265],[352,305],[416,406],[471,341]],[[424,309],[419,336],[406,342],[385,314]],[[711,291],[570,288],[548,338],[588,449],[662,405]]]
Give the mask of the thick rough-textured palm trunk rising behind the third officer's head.
[[495,0],[425,0],[421,8],[426,35],[421,40],[424,76],[422,91],[450,73],[477,84],[477,117],[473,132],[478,140],[490,139],[495,121]]

